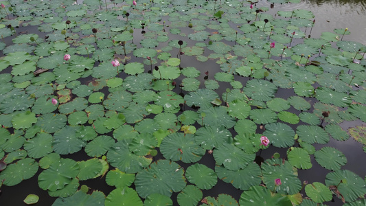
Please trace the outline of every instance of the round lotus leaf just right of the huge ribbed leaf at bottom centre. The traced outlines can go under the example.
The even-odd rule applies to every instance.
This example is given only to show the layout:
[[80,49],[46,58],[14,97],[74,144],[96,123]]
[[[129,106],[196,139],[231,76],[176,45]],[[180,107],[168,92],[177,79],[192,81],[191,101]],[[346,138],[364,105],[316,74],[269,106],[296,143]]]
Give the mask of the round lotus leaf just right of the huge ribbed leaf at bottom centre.
[[217,176],[214,170],[199,163],[190,165],[185,171],[185,176],[190,183],[197,185],[202,190],[209,190],[217,183]]

